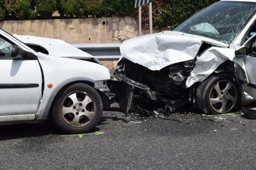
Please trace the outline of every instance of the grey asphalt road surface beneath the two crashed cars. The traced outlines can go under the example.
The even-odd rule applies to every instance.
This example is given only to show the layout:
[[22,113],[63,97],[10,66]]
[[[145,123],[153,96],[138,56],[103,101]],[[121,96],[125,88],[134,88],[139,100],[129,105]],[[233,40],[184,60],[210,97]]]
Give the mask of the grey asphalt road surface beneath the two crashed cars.
[[134,124],[121,116],[105,112],[88,136],[63,136],[49,124],[0,126],[0,167],[256,169],[256,120],[175,113],[168,120],[142,118]]

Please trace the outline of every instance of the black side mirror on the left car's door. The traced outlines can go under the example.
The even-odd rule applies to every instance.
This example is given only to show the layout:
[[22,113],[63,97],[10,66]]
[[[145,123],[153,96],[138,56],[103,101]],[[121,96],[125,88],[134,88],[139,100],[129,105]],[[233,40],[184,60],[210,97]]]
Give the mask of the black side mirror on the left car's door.
[[37,60],[35,54],[25,51],[18,46],[12,47],[11,57],[13,60]]

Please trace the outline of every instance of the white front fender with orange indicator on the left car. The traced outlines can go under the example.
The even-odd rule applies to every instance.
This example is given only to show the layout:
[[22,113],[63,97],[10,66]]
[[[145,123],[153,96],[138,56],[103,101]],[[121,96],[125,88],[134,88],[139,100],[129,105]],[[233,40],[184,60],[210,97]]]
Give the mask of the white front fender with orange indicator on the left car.
[[[75,81],[87,81],[95,84],[96,81],[110,79],[108,68],[103,65],[61,57],[49,57],[41,53],[38,53],[37,56],[44,70],[45,78],[45,91],[38,119],[46,119],[47,110],[50,107],[49,103],[53,102],[56,94],[66,84]],[[67,69],[67,63],[69,63],[69,69]],[[47,84],[53,84],[53,87],[49,89]]]

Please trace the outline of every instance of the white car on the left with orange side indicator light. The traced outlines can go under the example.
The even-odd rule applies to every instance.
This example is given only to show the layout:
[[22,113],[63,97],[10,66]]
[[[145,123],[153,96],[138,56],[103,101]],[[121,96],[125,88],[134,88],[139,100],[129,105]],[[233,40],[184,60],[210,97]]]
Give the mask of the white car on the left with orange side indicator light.
[[3,30],[0,61],[1,124],[53,118],[62,131],[82,133],[109,107],[109,70],[99,63],[36,52]]

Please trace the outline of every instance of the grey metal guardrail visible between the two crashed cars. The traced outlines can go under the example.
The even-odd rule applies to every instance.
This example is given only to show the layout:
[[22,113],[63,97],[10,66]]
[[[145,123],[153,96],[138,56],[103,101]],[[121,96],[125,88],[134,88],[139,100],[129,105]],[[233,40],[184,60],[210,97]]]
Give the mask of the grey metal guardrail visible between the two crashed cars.
[[112,44],[72,44],[100,60],[118,60],[121,57],[121,43]]

